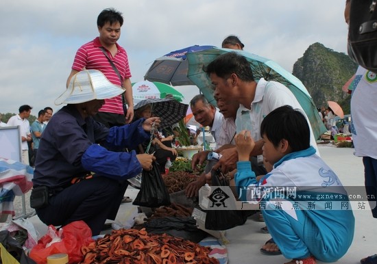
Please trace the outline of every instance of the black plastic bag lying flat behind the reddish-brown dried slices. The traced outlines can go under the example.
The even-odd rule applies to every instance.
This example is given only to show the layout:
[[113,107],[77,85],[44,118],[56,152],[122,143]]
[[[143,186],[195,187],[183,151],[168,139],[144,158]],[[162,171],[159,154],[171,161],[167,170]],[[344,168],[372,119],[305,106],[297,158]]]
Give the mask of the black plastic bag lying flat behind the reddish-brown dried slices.
[[206,232],[197,228],[196,220],[191,216],[153,218],[144,223],[143,226],[145,226],[148,233],[167,233],[173,237],[180,237],[182,239],[193,241],[194,243],[199,243],[199,241],[208,237]]

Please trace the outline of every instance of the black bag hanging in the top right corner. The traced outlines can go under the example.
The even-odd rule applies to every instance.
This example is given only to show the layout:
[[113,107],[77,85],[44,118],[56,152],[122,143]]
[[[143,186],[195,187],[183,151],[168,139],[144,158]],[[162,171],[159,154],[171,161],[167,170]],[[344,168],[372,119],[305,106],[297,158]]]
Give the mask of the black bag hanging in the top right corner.
[[377,72],[377,0],[351,0],[348,55]]

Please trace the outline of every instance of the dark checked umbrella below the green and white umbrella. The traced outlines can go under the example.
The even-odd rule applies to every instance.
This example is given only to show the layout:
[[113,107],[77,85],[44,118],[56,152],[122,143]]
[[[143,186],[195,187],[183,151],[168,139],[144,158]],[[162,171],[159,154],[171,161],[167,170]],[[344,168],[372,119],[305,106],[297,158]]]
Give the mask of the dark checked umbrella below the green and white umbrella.
[[140,101],[134,106],[134,110],[151,104],[151,112],[161,119],[160,129],[171,127],[186,116],[189,105],[180,103],[173,98],[149,98]]

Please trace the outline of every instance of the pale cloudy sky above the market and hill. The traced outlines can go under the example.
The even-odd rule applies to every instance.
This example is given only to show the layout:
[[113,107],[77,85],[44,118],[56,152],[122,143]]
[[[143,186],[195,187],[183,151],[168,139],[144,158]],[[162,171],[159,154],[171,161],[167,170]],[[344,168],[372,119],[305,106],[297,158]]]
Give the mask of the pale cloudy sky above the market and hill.
[[[64,91],[73,57],[98,36],[104,8],[123,13],[119,44],[129,56],[132,82],[143,80],[157,57],[194,44],[221,46],[235,34],[245,50],[292,71],[309,45],[346,53],[345,0],[2,0],[0,112],[29,104],[36,116]],[[185,102],[199,93],[178,87]]]

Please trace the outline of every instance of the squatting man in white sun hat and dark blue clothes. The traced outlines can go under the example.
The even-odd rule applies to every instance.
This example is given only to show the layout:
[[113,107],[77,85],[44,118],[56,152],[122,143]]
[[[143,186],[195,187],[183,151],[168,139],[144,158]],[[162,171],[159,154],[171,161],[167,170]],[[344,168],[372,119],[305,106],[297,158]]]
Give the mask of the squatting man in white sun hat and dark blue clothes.
[[82,70],[56,99],[56,105],[67,105],[51,118],[40,139],[30,198],[45,224],[84,220],[99,235],[106,219],[117,215],[127,179],[142,168],[151,170],[153,155],[115,150],[147,140],[159,118],[110,129],[93,119],[104,99],[122,92],[99,70]]

